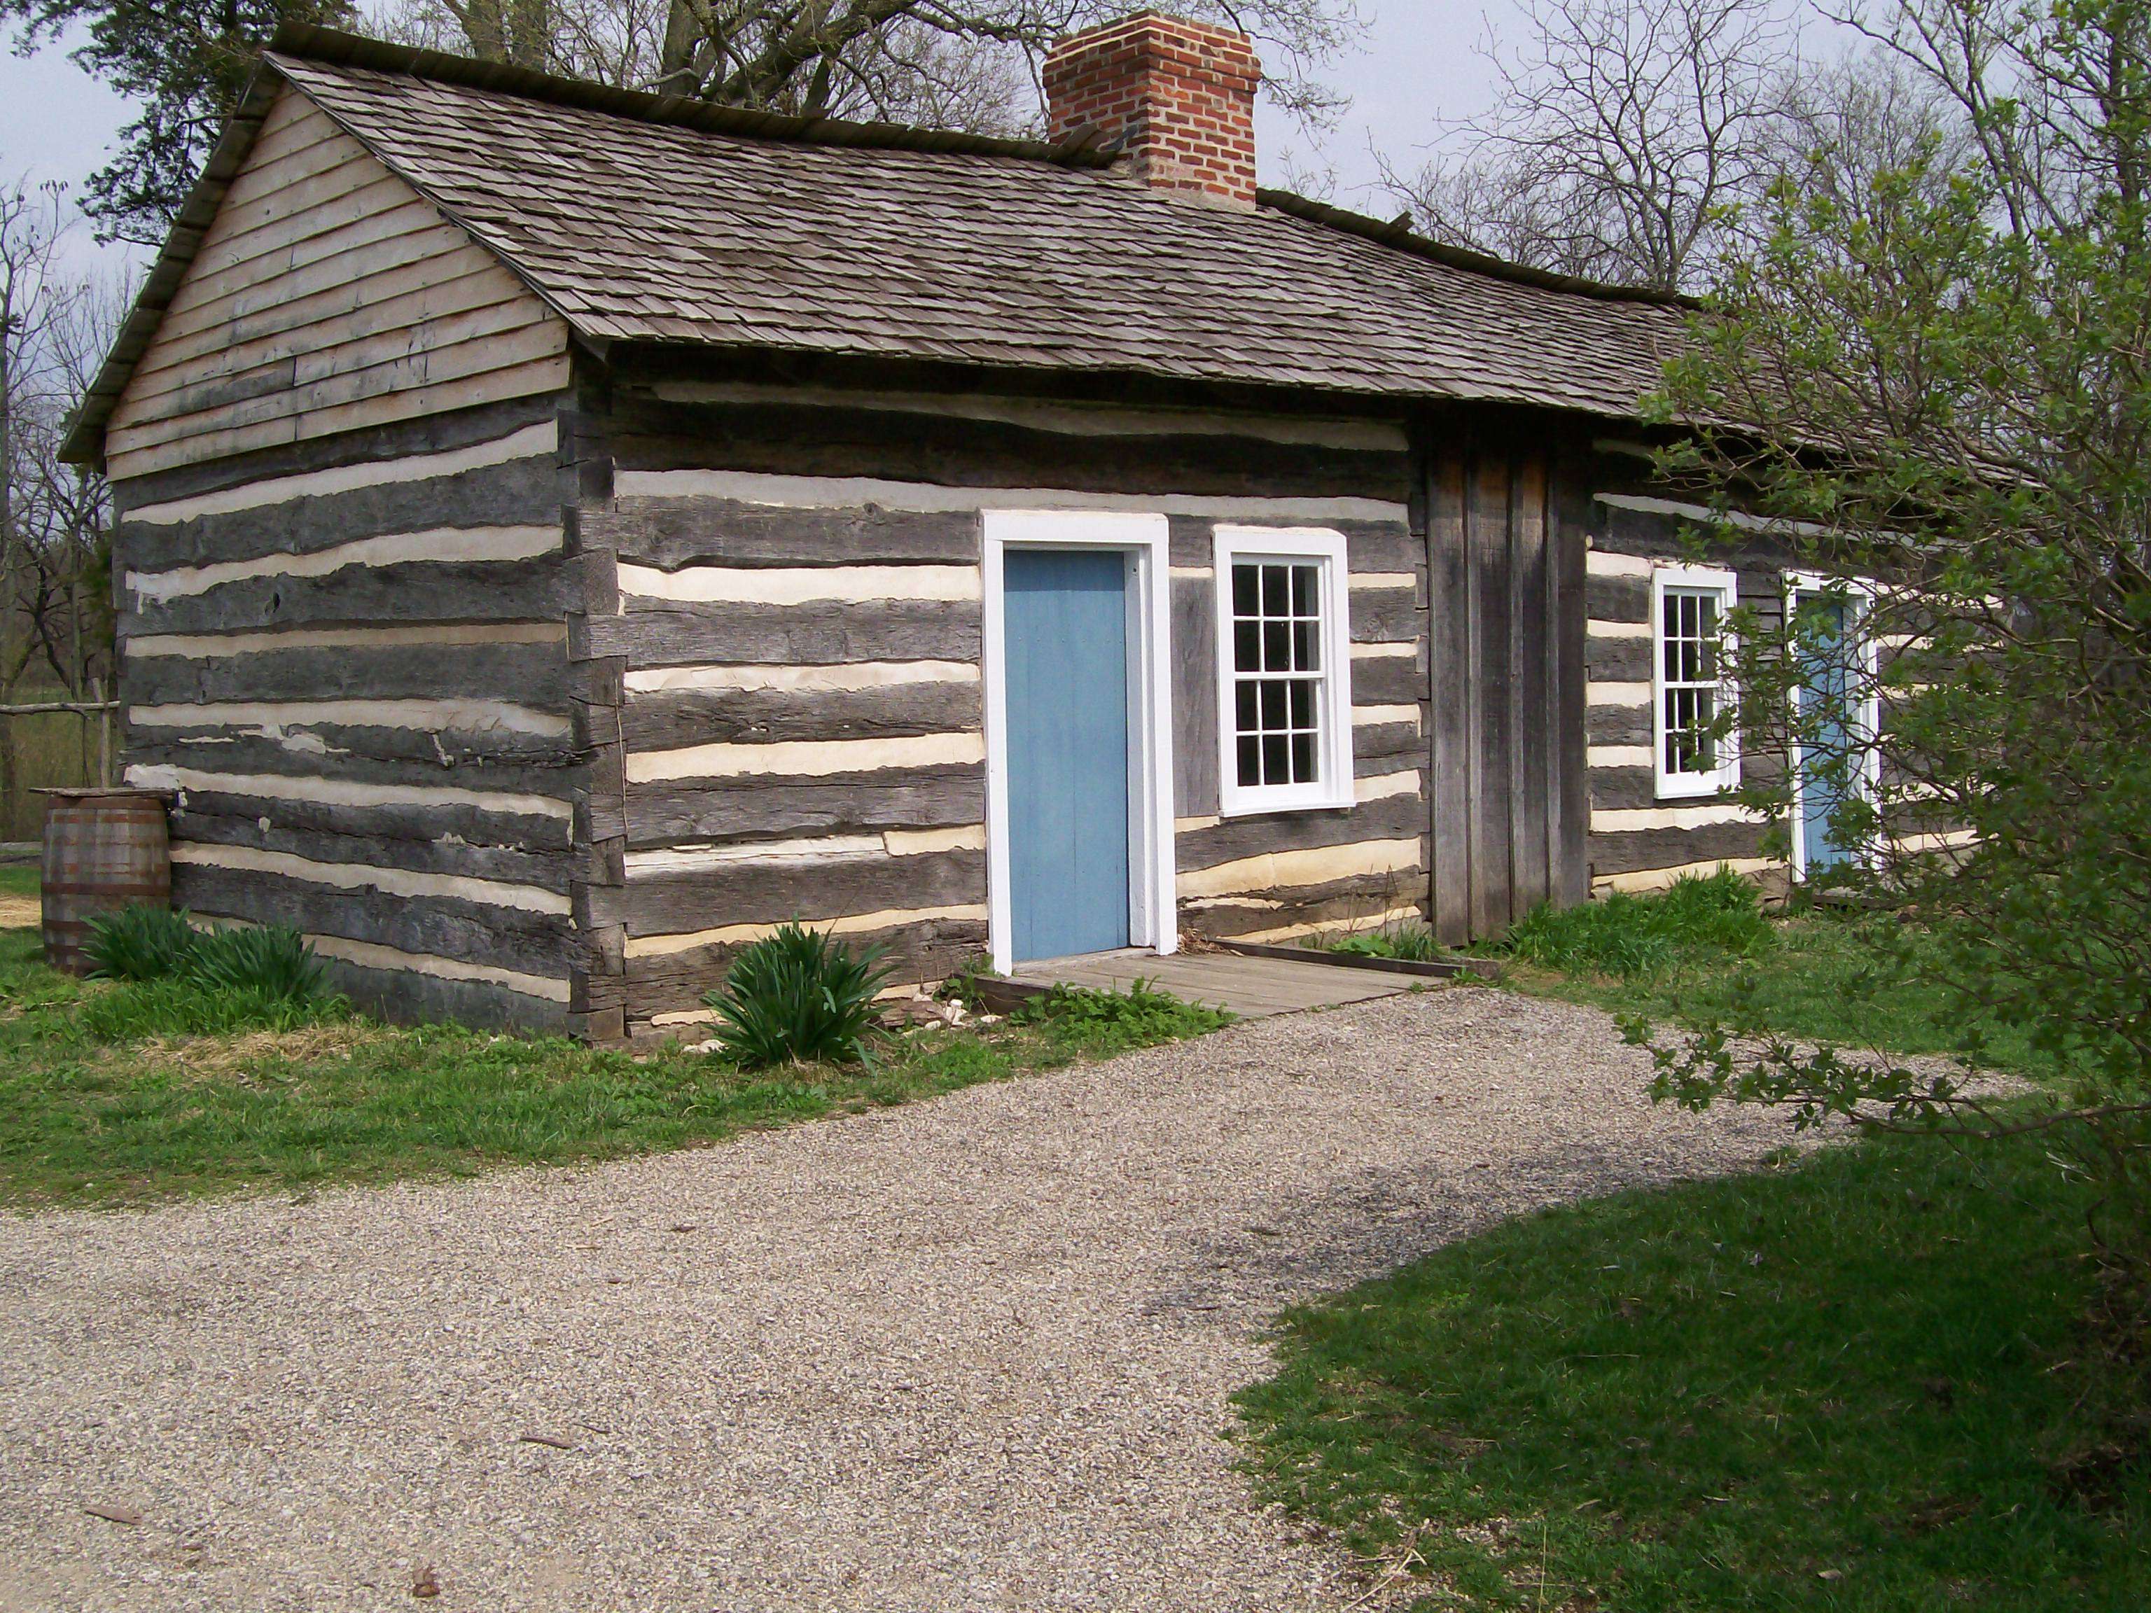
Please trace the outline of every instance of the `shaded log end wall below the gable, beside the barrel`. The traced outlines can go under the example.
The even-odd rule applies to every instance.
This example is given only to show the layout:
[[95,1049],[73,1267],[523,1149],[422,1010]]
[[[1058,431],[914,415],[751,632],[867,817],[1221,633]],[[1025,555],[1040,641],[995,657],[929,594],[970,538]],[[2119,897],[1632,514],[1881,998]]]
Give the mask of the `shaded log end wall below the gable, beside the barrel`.
[[581,1028],[587,779],[557,402],[116,484],[127,781],[174,899],[402,1015]]

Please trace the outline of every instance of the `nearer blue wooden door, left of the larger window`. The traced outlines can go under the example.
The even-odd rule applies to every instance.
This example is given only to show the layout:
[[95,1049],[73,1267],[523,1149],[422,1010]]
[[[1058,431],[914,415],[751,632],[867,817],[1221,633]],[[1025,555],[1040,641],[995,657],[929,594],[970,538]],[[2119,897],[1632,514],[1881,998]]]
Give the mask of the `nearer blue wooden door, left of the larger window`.
[[1002,559],[1015,957],[1127,946],[1127,561]]

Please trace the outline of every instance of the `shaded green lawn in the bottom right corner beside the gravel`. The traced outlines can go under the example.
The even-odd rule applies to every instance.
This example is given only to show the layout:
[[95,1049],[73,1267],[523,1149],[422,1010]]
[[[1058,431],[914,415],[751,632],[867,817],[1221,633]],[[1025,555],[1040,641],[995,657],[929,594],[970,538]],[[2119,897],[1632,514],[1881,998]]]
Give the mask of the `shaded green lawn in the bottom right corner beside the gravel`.
[[1428,1609],[2151,1607],[2080,1215],[2033,1144],[1897,1142],[1508,1222],[1288,1314],[1250,1460]]

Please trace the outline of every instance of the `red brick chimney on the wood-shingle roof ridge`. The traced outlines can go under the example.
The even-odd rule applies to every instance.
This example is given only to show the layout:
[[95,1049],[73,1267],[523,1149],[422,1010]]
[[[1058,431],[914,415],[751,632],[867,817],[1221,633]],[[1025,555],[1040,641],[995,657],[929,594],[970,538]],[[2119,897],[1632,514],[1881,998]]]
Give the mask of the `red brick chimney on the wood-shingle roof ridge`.
[[1254,92],[1245,34],[1142,11],[1069,34],[1045,58],[1054,140],[1095,129],[1168,191],[1254,206]]

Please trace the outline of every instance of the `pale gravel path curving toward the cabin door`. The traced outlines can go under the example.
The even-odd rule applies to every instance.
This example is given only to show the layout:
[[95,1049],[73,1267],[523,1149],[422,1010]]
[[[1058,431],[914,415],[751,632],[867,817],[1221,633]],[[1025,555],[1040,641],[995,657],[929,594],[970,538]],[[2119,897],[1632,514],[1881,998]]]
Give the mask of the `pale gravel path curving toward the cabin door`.
[[1452,989],[701,1153],[0,1219],[0,1607],[1336,1609],[1220,1439],[1258,1329],[1783,1140],[1641,1084],[1605,1015]]

